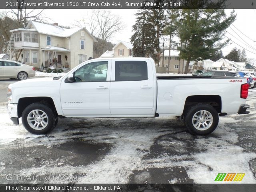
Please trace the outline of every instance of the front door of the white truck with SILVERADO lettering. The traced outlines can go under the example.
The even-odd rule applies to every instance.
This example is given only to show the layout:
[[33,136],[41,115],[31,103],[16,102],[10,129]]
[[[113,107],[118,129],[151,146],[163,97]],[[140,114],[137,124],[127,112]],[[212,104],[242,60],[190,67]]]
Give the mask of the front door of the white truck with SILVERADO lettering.
[[83,64],[74,74],[75,82],[62,80],[60,99],[65,116],[110,115],[111,60]]

